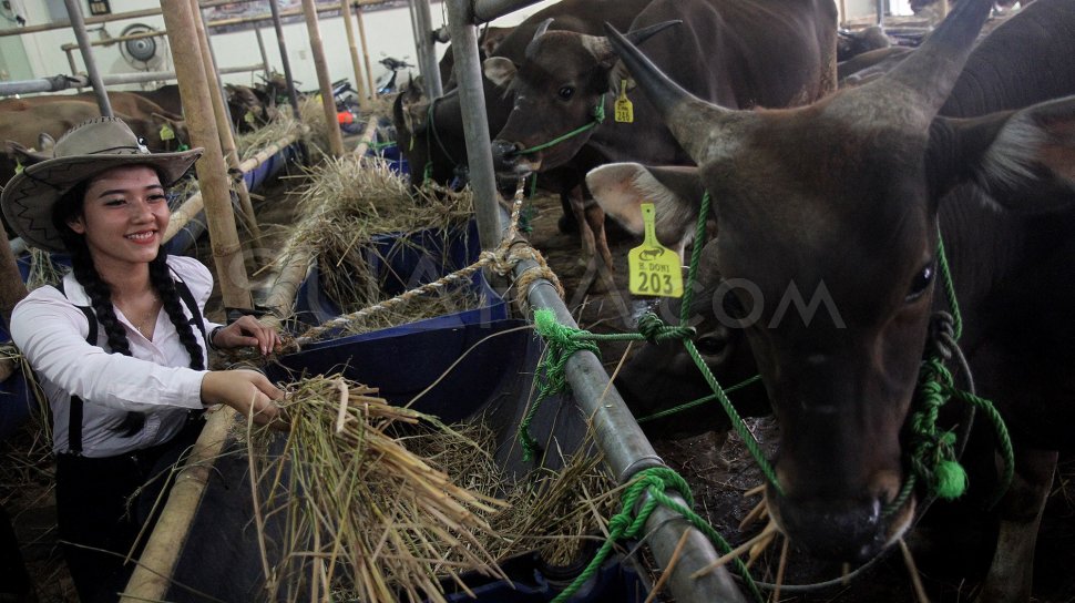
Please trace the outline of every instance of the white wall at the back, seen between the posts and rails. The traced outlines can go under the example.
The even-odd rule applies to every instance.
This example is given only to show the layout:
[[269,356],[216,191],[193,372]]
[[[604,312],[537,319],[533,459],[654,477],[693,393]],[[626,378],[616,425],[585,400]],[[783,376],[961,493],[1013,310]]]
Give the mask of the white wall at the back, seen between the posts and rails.
[[[160,3],[153,0],[112,0],[113,13],[144,10],[158,7]],[[555,3],[555,0],[539,2],[523,11],[510,14],[495,24],[515,24],[541,8]],[[49,8],[45,0],[21,0],[23,14],[28,24],[41,24],[51,20]],[[83,2],[84,4],[84,2]],[[442,3],[430,6],[430,16],[434,28],[444,23],[444,7]],[[366,11],[364,13],[366,25],[366,43],[369,50],[370,63],[373,78],[376,79],[387,70],[377,61],[385,55],[397,59],[408,58],[408,62],[418,63],[414,50],[414,38],[411,31],[410,14],[406,8],[388,9],[377,11]],[[124,20],[108,23],[105,30],[111,35],[119,35],[121,31],[132,23],[145,23],[147,25],[164,29],[164,19],[161,17],[144,17],[136,20]],[[94,25],[91,25],[91,29]],[[339,17],[324,18],[319,21],[321,43],[325,48],[328,61],[329,75],[332,80],[348,78],[354,80],[354,69],[351,67],[350,54],[347,47],[347,34],[344,30],[344,22]],[[357,35],[357,27],[356,27]],[[91,39],[96,40],[99,34],[90,33]],[[262,37],[265,41],[265,50],[270,65],[283,71],[280,62],[279,45],[276,41],[276,32],[272,21],[266,21],[262,28]],[[74,43],[74,32],[69,28],[9,38],[8,40],[20,40],[25,49],[29,61],[29,72],[33,78],[45,78],[60,73],[70,73],[66,55],[60,49],[62,44]],[[306,23],[295,22],[284,25],[284,39],[287,44],[288,59],[290,60],[291,71],[299,86],[304,90],[317,88],[317,74],[314,68],[314,60],[310,57],[309,35]],[[221,68],[253,65],[262,62],[258,50],[257,38],[253,30],[234,33],[221,33],[211,38],[217,62]],[[443,54],[447,45],[437,44],[438,55]],[[361,48],[359,48],[361,52]],[[6,54],[8,54],[6,52]],[[84,71],[82,58],[79,51],[73,51],[75,64],[79,71]],[[94,59],[98,69],[102,73],[125,73],[134,71],[123,60],[119,47],[94,47]],[[164,69],[171,69],[171,61],[167,61]],[[417,70],[416,70],[417,74]],[[252,84],[257,80],[254,73],[236,73],[224,75],[225,82]]]

